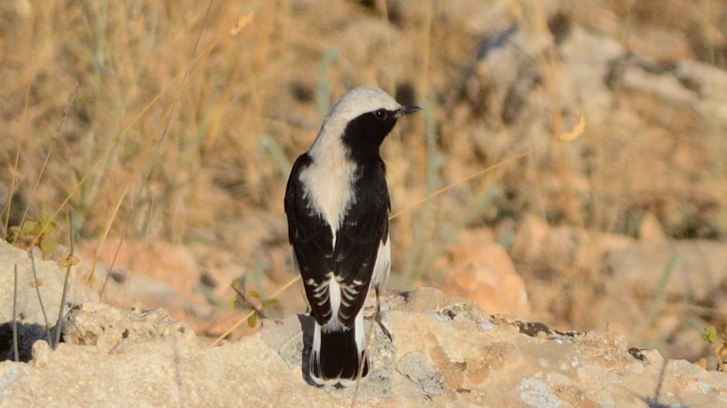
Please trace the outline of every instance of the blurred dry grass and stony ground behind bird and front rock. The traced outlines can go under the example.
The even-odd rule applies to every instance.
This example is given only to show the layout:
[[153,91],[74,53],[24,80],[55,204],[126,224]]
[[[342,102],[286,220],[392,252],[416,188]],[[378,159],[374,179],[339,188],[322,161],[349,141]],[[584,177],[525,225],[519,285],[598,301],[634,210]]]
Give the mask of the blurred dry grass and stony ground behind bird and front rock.
[[[157,306],[124,289],[152,277],[214,337],[249,310],[230,282],[262,300],[284,287],[289,168],[332,99],[369,84],[426,108],[382,149],[405,210],[390,287],[457,292],[512,258],[493,295],[522,307],[503,311],[714,367],[700,334],[727,318],[723,1],[6,0],[0,17],[0,232],[53,216],[64,243],[73,208],[111,303]],[[579,115],[585,134],[553,143]],[[680,291],[700,262],[710,279]],[[305,310],[300,287],[277,299],[273,316]]]

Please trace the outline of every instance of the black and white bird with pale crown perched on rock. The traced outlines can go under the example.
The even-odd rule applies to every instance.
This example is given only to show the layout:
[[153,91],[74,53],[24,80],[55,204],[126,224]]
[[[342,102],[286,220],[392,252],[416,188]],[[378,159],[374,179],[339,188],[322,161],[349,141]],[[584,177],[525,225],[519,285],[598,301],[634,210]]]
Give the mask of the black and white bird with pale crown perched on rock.
[[293,264],[316,319],[310,377],[351,385],[369,372],[364,301],[390,271],[389,191],[379,147],[402,106],[362,86],[338,99],[307,152],[295,160],[285,193]]

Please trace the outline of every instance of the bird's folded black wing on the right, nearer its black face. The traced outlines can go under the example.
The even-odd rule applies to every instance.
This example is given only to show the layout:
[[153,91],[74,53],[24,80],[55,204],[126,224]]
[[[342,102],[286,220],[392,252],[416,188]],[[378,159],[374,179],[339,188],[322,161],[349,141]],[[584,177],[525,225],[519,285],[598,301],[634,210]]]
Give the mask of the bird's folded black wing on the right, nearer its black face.
[[374,273],[379,245],[388,237],[389,192],[384,163],[360,167],[353,183],[356,200],[350,205],[336,234],[334,274],[340,280],[338,318],[350,328],[364,306]]

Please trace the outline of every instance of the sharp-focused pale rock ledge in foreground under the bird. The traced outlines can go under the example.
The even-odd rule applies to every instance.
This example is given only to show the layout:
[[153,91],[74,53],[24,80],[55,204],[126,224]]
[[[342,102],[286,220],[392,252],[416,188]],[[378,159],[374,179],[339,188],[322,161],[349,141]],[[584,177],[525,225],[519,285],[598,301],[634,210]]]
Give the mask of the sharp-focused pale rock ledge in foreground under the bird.
[[[537,323],[493,319],[470,301],[432,288],[387,295],[383,306],[393,342],[366,322],[374,329],[371,371],[356,395],[367,406],[697,408],[727,403],[727,375],[629,348],[612,332],[563,333]],[[94,344],[61,343],[55,351],[36,343],[30,364],[0,363],[0,406],[351,405],[351,388],[306,383],[302,367],[307,367],[310,317],[266,320],[253,335],[209,347],[193,341],[190,332],[147,330],[155,322],[174,327],[161,311],[139,314],[100,304],[84,309],[74,312],[71,322],[115,317],[111,320],[126,322],[128,337],[119,340],[118,330],[96,330]],[[137,318],[147,328],[128,325]],[[110,352],[108,346],[117,341]]]

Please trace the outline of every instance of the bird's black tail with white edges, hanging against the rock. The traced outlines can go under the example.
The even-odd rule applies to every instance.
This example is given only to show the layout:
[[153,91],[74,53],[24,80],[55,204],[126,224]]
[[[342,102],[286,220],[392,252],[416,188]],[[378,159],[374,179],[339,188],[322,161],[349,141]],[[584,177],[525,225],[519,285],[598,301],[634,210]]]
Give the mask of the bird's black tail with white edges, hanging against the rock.
[[[369,374],[369,359],[366,356],[366,340],[361,325],[361,333],[357,333],[358,325],[350,330],[340,328],[324,332],[316,322],[313,339],[313,352],[310,354],[310,377],[320,385],[353,385],[358,378],[358,367],[363,359],[361,378]],[[356,335],[359,341],[356,341]],[[316,337],[320,342],[316,341]],[[361,341],[363,340],[363,341]]]

